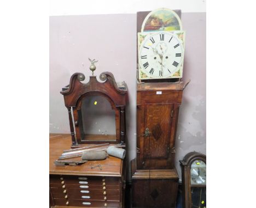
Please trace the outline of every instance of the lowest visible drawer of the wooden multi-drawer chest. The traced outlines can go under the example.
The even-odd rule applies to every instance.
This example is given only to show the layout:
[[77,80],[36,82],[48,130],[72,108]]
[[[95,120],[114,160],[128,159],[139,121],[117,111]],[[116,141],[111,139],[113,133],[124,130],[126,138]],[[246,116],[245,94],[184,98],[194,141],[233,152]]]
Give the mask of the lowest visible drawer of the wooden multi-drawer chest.
[[121,207],[118,201],[97,201],[97,200],[79,200],[79,199],[54,199],[55,205],[66,206],[81,206],[81,207]]

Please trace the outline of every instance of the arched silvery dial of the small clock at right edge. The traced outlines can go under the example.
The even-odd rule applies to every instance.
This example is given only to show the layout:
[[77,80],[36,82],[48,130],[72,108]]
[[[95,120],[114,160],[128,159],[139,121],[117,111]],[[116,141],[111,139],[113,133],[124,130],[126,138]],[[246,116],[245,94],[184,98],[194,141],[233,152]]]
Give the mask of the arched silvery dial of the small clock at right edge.
[[191,185],[206,185],[206,164],[195,160],[190,167]]

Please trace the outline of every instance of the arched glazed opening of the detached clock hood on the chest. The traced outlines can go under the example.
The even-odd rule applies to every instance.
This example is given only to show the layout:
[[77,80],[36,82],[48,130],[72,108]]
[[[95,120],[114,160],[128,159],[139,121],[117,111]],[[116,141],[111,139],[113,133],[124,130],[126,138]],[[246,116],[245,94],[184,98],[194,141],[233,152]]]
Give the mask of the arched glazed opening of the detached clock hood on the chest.
[[82,101],[81,134],[86,141],[115,141],[115,111],[104,96],[86,96]]

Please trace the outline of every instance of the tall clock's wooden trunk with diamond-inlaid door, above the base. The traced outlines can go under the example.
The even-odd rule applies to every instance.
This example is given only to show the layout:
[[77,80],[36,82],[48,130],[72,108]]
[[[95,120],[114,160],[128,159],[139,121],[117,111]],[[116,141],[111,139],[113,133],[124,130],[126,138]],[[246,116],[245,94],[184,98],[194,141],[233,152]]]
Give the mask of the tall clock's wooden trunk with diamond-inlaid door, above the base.
[[183,87],[183,82],[137,84],[137,169],[174,168]]

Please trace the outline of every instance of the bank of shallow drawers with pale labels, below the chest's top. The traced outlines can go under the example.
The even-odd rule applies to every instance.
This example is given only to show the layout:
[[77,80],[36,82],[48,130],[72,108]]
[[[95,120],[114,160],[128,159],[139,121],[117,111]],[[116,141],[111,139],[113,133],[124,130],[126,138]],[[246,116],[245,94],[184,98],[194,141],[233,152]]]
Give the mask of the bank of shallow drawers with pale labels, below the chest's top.
[[50,175],[55,205],[122,207],[122,186],[117,177]]

